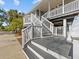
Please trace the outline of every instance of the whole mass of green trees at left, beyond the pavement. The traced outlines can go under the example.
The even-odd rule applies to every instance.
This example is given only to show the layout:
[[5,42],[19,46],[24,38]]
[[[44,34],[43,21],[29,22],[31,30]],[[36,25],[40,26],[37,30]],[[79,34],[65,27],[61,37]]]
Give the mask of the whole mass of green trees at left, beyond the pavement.
[[[8,15],[8,16],[7,16]],[[8,24],[2,26],[3,23]],[[0,9],[0,30],[5,31],[21,31],[23,27],[23,13],[19,13],[17,10],[4,11]]]

